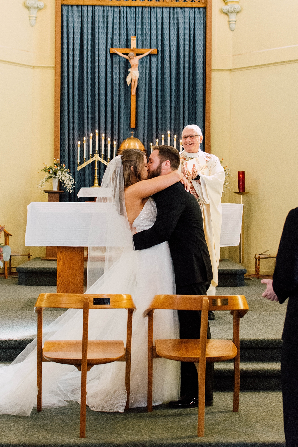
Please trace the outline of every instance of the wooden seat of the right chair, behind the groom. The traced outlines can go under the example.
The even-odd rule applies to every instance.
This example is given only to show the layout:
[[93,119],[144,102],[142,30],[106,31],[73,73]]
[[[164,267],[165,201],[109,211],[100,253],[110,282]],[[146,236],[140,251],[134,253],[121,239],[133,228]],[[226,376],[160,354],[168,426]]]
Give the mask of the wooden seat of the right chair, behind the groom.
[[[179,362],[197,363],[201,355],[200,340],[155,340],[156,354]],[[207,340],[206,362],[221,362],[236,357],[231,340]]]

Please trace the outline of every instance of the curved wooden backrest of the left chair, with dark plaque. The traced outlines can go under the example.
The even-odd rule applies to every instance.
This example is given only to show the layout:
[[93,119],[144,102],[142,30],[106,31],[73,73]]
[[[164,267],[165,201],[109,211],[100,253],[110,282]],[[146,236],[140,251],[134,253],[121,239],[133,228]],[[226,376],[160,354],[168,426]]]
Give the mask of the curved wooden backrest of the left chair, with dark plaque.
[[34,310],[37,308],[83,309],[84,300],[87,298],[89,309],[136,309],[131,295],[126,294],[41,293]]

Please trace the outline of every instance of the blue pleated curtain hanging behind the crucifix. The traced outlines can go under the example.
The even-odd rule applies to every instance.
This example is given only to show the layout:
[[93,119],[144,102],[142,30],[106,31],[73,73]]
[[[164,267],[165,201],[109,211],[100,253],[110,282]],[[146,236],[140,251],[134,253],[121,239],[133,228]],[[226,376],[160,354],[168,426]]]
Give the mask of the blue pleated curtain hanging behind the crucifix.
[[[139,61],[136,128],[130,129],[129,61],[109,48],[157,48],[157,55]],[[95,130],[116,140],[117,148],[130,131],[147,152],[150,143],[171,131],[179,135],[187,124],[205,125],[206,8],[147,8],[117,6],[62,6],[60,160],[76,180],[74,193],[63,201],[78,201],[81,187],[94,179],[94,162],[77,171],[77,142]],[[113,154],[113,144],[111,144]],[[112,155],[113,156],[113,155]],[[88,158],[88,155],[87,155]],[[107,159],[107,144],[105,144]],[[104,165],[99,163],[100,179]],[[60,199],[60,200],[61,200]],[[85,199],[83,199],[85,200]]]

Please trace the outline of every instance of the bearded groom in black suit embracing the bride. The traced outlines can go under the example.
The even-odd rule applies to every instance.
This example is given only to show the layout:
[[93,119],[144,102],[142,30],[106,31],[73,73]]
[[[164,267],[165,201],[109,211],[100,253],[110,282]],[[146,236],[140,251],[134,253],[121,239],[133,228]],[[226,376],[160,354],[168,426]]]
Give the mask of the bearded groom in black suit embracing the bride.
[[[153,146],[148,160],[148,178],[176,171],[179,152],[172,146]],[[193,195],[178,182],[153,196],[157,217],[153,227],[133,236],[136,250],[143,250],[168,240],[174,272],[176,293],[206,295],[213,278],[210,256],[205,240],[200,206]],[[201,313],[178,311],[180,338],[199,339]],[[207,338],[211,338],[208,324]],[[194,363],[181,362],[180,399],[171,401],[173,408],[198,405],[197,368]],[[205,405],[213,404],[213,363],[206,363]]]

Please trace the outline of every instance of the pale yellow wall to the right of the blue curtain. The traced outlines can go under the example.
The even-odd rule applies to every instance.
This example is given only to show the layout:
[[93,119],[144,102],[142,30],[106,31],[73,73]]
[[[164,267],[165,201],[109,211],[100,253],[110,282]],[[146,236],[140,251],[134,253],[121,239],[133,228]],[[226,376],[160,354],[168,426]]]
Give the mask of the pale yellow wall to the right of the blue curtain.
[[[285,217],[298,206],[298,2],[239,4],[232,32],[223,1],[213,3],[211,151],[235,179],[245,171],[244,266],[254,273],[253,255],[277,253]],[[221,255],[238,261],[239,249]],[[261,274],[273,270],[272,260],[260,262]]]

